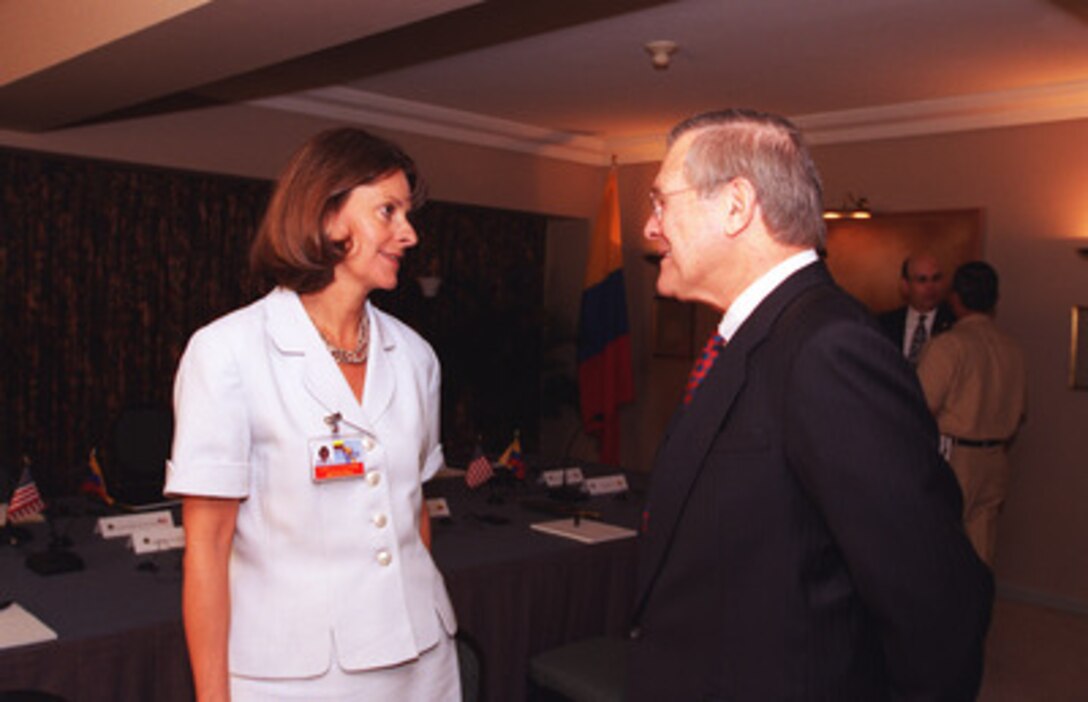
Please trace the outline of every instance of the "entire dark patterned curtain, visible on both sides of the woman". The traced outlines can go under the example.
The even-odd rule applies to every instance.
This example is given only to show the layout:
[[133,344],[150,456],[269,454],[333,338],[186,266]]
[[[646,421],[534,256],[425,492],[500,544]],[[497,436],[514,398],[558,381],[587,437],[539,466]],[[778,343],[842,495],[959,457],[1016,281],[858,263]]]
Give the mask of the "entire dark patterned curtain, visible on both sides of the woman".
[[[123,408],[169,407],[193,331],[268,290],[247,255],[270,188],[0,149],[0,490],[25,455],[44,493],[72,493]],[[545,219],[432,202],[417,222],[420,246],[379,304],[443,361],[450,460],[515,429],[531,449]],[[435,297],[423,273],[441,278]]]

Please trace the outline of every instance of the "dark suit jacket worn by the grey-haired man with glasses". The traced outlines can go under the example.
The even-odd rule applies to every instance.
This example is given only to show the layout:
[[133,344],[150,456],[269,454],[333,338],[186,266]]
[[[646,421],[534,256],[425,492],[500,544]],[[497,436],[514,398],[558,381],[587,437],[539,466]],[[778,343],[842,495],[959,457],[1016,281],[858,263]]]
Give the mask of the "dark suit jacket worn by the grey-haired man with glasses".
[[658,449],[631,700],[973,700],[993,583],[915,374],[823,263]]

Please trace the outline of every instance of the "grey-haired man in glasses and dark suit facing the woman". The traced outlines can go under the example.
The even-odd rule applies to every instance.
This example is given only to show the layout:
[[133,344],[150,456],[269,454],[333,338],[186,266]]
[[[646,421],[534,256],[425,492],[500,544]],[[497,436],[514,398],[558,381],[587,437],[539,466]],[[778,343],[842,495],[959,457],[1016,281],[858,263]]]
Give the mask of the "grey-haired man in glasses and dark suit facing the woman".
[[692,118],[651,199],[658,292],[721,310],[725,341],[658,449],[628,697],[973,700],[992,579],[917,379],[816,255],[801,135]]

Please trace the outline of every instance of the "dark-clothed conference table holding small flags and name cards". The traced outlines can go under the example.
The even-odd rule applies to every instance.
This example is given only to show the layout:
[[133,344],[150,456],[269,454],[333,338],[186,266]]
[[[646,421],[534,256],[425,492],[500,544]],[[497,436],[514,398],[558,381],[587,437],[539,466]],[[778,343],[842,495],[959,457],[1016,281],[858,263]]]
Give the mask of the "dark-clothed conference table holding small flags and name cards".
[[[638,476],[629,479],[636,484]],[[543,489],[524,483],[472,491],[450,478],[428,483],[425,492],[450,505],[452,518],[433,525],[433,553],[459,626],[483,653],[485,700],[523,700],[535,653],[625,630],[633,539],[586,545],[531,530],[531,522],[557,516],[527,508],[527,501],[541,501]],[[626,498],[573,504],[634,528],[640,495],[634,490]],[[83,571],[39,576],[24,567],[25,556],[49,541],[41,525],[23,546],[0,546],[0,600],[14,599],[59,635],[0,651],[0,690],[42,689],[70,702],[191,700],[181,553],[137,556],[121,540],[94,534],[94,514],[72,512],[54,524],[75,543]]]

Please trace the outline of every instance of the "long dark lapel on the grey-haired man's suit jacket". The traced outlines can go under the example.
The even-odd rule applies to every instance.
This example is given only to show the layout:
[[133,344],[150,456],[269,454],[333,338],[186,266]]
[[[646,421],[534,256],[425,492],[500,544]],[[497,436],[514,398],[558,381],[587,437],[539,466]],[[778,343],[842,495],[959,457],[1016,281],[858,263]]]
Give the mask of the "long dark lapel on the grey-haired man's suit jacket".
[[764,342],[775,321],[803,291],[830,282],[823,263],[801,269],[775,288],[741,324],[721,349],[691,404],[681,405],[669,422],[654,461],[646,503],[647,531],[640,555],[639,608],[659,571],[691,493],[718,435],[746,380],[749,356]]

